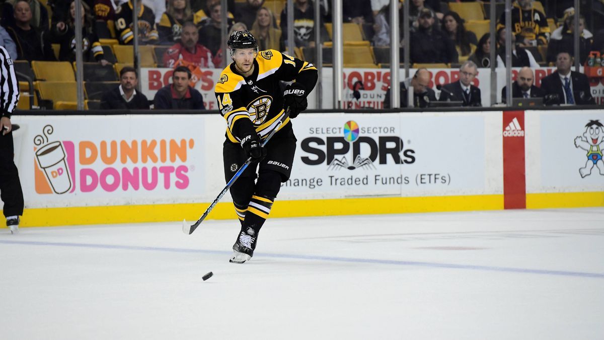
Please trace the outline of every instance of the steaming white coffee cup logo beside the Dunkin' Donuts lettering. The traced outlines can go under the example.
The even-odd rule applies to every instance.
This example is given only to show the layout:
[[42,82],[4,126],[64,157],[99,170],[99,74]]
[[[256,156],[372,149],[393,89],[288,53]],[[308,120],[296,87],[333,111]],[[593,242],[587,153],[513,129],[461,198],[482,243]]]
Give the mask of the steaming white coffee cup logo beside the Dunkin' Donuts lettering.
[[65,162],[65,149],[61,142],[49,143],[50,134],[53,134],[53,126],[47,125],[42,129],[42,135],[34,137],[34,144],[42,145],[36,150],[36,160],[53,191],[57,194],[65,194],[71,189],[71,176]]

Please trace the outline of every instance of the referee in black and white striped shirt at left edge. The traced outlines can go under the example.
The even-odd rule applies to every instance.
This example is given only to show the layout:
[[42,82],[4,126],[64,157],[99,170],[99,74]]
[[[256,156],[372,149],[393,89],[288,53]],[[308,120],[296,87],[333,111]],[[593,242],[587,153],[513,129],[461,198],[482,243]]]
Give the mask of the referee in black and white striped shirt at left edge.
[[13,125],[10,115],[19,102],[19,85],[14,75],[13,59],[0,46],[0,198],[11,234],[19,232],[19,216],[23,215],[23,191],[19,172],[14,165]]

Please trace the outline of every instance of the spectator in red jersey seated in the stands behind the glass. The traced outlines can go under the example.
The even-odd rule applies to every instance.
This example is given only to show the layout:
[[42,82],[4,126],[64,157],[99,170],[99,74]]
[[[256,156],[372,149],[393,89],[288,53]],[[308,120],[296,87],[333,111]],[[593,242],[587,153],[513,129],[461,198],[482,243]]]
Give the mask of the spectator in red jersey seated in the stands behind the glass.
[[214,68],[211,51],[204,45],[198,44],[198,41],[199,33],[195,24],[191,21],[185,22],[180,41],[165,51],[165,67],[175,68],[182,64],[180,60],[183,60],[187,65]]

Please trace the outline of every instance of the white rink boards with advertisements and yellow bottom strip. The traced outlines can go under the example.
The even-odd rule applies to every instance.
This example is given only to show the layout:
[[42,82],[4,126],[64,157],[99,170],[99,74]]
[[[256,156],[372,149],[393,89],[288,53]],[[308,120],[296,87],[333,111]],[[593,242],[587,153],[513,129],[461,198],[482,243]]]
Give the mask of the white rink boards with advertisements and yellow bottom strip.
[[[225,185],[217,114],[11,120],[22,226],[196,220]],[[301,114],[271,216],[604,206],[594,120],[604,112]],[[208,218],[235,218],[228,195]]]

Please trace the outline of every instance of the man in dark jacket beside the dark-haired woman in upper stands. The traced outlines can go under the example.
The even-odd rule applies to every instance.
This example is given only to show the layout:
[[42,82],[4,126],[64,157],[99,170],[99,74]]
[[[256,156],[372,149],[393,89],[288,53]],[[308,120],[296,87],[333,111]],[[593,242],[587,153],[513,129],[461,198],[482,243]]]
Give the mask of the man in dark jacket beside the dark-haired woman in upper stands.
[[414,63],[451,63],[457,62],[455,44],[447,34],[434,27],[434,12],[423,8],[419,19],[419,28],[411,33],[411,61]]

